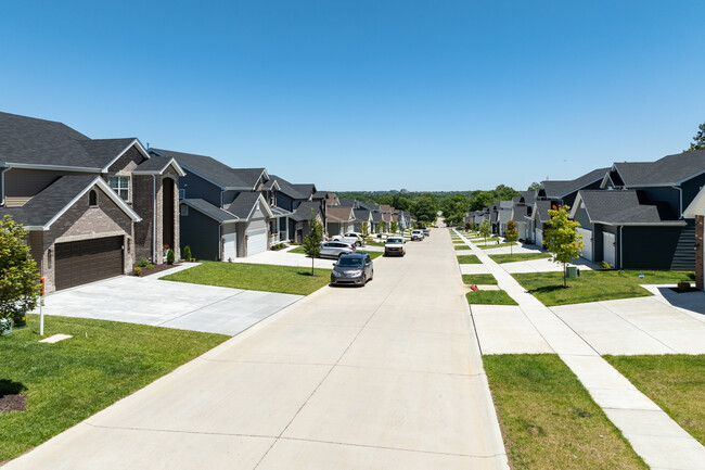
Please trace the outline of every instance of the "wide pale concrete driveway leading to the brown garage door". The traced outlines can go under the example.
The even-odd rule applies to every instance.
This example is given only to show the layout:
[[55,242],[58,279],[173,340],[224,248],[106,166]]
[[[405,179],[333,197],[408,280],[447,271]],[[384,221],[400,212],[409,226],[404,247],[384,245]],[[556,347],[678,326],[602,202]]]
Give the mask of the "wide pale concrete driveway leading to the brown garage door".
[[[44,314],[234,335],[299,298],[121,276],[48,295]],[[53,333],[51,319],[47,331]]]

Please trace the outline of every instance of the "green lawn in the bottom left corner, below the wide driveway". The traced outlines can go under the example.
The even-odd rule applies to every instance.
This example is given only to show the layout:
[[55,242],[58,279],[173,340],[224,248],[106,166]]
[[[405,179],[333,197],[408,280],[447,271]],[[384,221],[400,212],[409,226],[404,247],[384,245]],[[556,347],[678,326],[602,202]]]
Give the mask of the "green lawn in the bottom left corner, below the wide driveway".
[[0,465],[228,340],[220,334],[78,318],[39,318],[0,338],[0,395],[24,393],[27,410],[0,414]]

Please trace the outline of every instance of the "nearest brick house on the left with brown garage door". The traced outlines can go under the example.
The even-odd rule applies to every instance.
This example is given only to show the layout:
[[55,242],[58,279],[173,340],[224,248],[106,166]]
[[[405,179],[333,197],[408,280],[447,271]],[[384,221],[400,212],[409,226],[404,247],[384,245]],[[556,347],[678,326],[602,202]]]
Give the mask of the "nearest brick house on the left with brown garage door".
[[179,253],[172,158],[136,138],[90,139],[56,122],[0,113],[0,216],[29,231],[47,291],[130,272]]

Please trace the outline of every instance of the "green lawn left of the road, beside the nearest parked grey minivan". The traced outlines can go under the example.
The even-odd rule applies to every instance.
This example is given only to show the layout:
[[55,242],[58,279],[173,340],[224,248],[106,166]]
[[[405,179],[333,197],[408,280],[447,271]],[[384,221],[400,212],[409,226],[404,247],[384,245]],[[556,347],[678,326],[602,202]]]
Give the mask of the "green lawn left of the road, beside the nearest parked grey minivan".
[[202,265],[165,276],[162,279],[193,284],[308,295],[330,282],[331,269],[317,268],[316,277],[313,277],[311,268],[308,267],[203,262]]

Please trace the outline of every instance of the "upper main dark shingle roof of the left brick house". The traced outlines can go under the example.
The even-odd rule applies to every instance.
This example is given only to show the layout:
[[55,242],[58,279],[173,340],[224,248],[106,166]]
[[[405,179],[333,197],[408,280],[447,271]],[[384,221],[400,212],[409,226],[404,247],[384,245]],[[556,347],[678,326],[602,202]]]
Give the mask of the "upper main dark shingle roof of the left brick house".
[[100,169],[134,137],[91,140],[62,123],[0,113],[0,161]]

